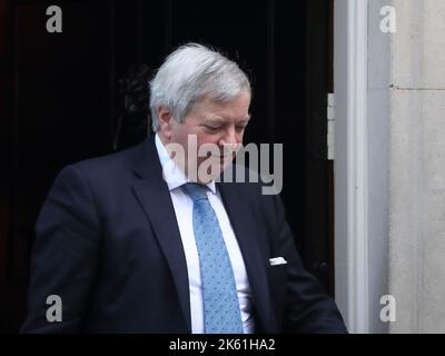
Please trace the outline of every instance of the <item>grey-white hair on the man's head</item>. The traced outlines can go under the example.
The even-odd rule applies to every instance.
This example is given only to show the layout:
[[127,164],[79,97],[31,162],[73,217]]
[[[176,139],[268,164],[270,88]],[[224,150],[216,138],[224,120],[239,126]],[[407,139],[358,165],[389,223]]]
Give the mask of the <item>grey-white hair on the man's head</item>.
[[181,46],[167,57],[150,81],[152,129],[159,130],[159,107],[168,108],[182,122],[205,97],[229,101],[244,90],[250,93],[249,79],[236,62],[202,44]]

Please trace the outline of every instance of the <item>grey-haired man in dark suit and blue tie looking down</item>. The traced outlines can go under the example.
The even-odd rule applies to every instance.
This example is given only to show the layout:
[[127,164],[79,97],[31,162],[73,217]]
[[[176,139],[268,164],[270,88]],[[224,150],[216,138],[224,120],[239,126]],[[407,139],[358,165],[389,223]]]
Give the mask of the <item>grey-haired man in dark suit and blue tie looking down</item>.
[[[22,332],[345,333],[303,269],[279,196],[215,181],[250,118],[246,75],[190,43],[150,91],[155,137],[57,177],[36,225]],[[49,296],[59,320],[48,320]]]

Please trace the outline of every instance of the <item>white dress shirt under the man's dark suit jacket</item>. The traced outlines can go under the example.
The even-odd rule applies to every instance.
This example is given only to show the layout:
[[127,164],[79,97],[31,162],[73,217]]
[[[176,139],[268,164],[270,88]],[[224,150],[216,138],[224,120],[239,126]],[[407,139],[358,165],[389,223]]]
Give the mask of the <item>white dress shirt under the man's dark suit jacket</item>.
[[[186,255],[190,294],[191,333],[202,334],[205,332],[204,303],[199,256],[196,247],[192,225],[194,201],[180,188],[180,186],[190,180],[169,157],[167,149],[164,147],[158,134],[156,134],[155,142],[159,160],[162,166],[165,179],[170,190],[171,201],[175,207],[176,219],[178,221],[179,233]],[[226,209],[224,208],[219,191],[217,191],[216,189],[215,181],[210,181],[209,184],[207,184],[207,187],[209,188],[209,190],[207,191],[207,197],[218,218],[219,226],[222,231],[222,238],[226,244],[227,251],[234,269],[244,333],[251,334],[255,332],[255,325],[251,314],[251,291],[243,255],[239,249],[238,241],[235,237],[234,229],[231,228]]]

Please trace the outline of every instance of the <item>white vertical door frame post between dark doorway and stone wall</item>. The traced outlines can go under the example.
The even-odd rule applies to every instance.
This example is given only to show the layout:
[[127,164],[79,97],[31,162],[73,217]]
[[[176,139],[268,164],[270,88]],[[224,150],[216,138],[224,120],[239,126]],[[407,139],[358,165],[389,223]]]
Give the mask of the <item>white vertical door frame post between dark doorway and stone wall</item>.
[[368,332],[367,0],[336,0],[335,280],[352,333]]

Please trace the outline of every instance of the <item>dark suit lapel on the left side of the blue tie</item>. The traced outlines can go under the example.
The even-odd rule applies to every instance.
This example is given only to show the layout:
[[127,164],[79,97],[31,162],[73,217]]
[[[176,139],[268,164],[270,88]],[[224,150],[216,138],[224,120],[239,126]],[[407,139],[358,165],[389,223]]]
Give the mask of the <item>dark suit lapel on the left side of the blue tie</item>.
[[170,267],[184,318],[191,333],[187,263],[170,192],[162,179],[162,168],[154,137],[149,137],[141,145],[135,171],[142,178],[134,185],[135,195],[151,222],[155,236]]

